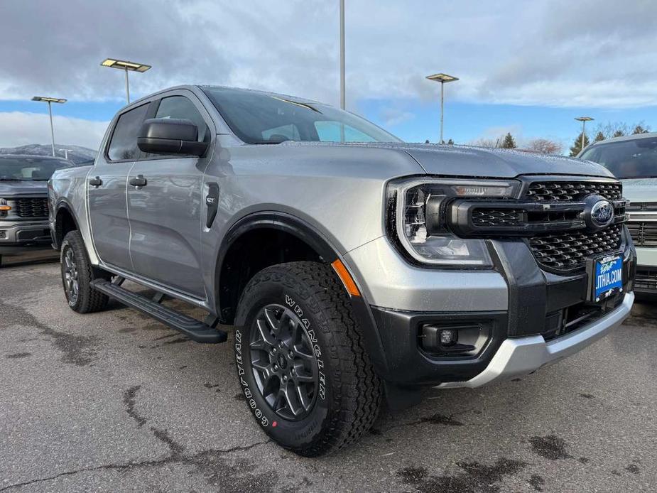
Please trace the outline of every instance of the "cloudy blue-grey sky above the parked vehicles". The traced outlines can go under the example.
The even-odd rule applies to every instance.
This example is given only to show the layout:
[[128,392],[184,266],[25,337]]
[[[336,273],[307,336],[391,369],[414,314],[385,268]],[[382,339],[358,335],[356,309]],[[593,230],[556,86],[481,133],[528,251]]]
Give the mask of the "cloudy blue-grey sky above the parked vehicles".
[[[251,87],[339,102],[338,0],[0,0],[0,147],[95,148],[124,104],[107,57],[148,63],[134,97],[170,85]],[[573,117],[657,130],[657,2],[346,0],[347,107],[407,141],[511,131],[570,144]],[[594,125],[593,125],[594,126]]]

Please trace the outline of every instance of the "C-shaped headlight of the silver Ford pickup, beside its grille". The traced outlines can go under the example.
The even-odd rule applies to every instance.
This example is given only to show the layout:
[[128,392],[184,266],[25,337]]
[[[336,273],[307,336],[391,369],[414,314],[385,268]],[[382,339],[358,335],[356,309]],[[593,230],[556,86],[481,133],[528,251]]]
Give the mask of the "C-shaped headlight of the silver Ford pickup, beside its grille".
[[484,240],[456,237],[447,227],[455,198],[504,199],[518,182],[500,180],[401,180],[389,185],[389,229],[413,259],[423,264],[472,269],[491,267]]

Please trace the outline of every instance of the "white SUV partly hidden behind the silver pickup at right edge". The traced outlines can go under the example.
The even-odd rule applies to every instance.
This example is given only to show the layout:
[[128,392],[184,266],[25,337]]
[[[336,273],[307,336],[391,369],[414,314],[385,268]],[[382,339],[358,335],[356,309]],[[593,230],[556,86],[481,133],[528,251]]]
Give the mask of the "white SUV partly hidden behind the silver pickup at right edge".
[[623,183],[627,227],[637,256],[637,293],[657,293],[657,132],[617,137],[585,148],[577,156],[602,164]]

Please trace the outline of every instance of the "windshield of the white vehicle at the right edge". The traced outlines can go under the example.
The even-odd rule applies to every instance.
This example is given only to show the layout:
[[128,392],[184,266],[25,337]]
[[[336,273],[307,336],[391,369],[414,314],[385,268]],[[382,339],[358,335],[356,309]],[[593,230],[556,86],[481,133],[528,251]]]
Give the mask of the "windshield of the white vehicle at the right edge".
[[616,178],[654,178],[657,177],[657,136],[601,143],[580,157],[602,164]]

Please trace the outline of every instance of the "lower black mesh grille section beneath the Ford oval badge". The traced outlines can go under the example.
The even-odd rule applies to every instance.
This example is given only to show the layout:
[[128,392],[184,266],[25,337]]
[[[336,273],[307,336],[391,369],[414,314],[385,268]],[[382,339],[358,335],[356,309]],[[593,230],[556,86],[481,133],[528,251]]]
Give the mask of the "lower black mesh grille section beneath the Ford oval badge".
[[540,234],[528,239],[534,258],[543,267],[571,271],[586,266],[586,259],[619,251],[622,226],[613,224],[602,231]]

